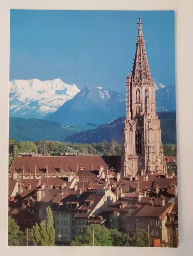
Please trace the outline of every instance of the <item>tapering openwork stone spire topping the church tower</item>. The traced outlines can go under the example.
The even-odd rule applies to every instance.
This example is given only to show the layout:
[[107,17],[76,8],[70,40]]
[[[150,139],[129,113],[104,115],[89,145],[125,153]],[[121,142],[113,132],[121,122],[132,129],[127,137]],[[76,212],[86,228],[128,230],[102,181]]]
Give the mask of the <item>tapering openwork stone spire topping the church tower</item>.
[[[150,68],[145,50],[145,41],[142,33],[142,21],[139,13],[138,17],[138,39],[136,42],[136,52],[132,70],[132,79],[134,81],[142,82],[144,79],[151,80]],[[147,80],[146,80],[147,81]]]

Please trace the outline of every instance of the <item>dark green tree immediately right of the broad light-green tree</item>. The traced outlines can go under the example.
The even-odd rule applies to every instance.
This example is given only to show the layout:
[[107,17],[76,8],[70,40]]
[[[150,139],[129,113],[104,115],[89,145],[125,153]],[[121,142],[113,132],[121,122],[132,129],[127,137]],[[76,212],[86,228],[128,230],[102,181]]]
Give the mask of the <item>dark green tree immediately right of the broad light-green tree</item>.
[[131,239],[124,233],[110,229],[110,236],[112,238],[112,246],[130,246]]

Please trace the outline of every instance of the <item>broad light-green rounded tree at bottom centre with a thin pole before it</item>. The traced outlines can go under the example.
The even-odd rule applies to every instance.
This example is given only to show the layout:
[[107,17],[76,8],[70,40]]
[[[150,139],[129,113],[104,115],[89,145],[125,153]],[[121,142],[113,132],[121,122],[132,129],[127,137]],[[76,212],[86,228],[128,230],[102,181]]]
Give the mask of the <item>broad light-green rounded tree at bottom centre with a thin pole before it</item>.
[[110,230],[103,225],[91,224],[85,228],[79,236],[71,242],[72,246],[93,246],[93,230],[94,230],[94,246],[112,246],[112,238]]

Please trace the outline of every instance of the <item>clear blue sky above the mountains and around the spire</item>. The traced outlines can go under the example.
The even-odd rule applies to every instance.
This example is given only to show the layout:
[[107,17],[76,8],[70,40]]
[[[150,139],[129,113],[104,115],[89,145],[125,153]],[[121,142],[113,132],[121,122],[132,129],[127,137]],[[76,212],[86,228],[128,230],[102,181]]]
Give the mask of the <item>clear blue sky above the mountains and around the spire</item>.
[[[139,11],[10,11],[10,80],[52,80],[122,91]],[[174,12],[141,11],[156,83],[175,83]]]

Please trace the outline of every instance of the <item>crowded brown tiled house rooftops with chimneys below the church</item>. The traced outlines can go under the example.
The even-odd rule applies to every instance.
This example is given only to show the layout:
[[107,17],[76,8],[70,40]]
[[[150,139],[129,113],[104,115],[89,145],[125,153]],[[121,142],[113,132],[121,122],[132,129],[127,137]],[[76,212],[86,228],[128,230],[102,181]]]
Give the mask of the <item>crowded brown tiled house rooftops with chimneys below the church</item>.
[[[122,178],[119,173],[115,174],[113,171],[104,174],[102,167],[98,171],[80,170],[78,174],[79,176],[70,179],[68,177],[9,180],[10,204],[14,207],[24,204],[28,208],[37,202],[51,202],[53,211],[75,210],[75,216],[86,217],[103,198],[105,190],[111,190],[119,199],[108,208],[108,211],[128,211],[131,214],[136,213],[136,210],[142,210],[143,204],[146,204],[141,214],[149,212],[150,215],[156,214],[150,207],[151,198],[153,201],[155,198],[154,209],[160,214],[161,196],[165,197],[165,208],[169,206],[169,198],[177,197],[177,176],[143,174],[135,178]],[[11,198],[15,186],[18,186],[18,194]],[[132,206],[129,206],[128,202],[131,202]]]

